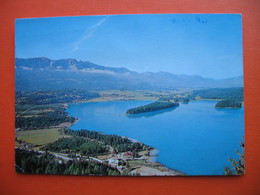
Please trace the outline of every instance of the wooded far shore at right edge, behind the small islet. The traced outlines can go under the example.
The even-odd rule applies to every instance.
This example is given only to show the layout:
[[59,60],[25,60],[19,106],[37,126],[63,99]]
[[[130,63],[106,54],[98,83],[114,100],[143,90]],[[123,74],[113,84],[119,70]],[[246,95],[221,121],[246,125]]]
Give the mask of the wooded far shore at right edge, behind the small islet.
[[195,98],[196,96],[205,99],[232,99],[238,102],[244,100],[243,87],[195,90],[190,98]]

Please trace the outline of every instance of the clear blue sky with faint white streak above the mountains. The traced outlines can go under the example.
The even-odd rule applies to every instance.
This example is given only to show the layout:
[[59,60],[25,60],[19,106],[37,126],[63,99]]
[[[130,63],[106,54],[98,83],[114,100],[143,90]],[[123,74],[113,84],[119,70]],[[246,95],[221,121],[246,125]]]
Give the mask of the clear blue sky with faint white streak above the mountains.
[[16,20],[16,57],[75,58],[137,72],[243,75],[239,14],[147,14]]

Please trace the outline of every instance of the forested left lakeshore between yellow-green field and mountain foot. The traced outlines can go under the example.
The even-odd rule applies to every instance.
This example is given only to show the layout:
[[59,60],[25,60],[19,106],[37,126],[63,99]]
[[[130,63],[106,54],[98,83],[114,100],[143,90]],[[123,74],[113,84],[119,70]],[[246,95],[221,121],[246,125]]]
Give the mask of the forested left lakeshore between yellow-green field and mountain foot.
[[76,119],[68,116],[64,104],[96,97],[99,97],[98,93],[71,89],[16,92],[15,128],[33,130],[74,123]]

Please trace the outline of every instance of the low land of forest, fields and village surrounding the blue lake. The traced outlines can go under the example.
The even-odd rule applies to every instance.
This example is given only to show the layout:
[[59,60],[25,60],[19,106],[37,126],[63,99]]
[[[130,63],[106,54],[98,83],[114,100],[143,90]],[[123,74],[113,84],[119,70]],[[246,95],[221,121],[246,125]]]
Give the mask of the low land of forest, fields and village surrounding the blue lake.
[[[243,88],[176,91],[86,91],[76,89],[16,93],[16,170],[70,175],[183,175],[150,159],[152,146],[98,130],[70,130],[78,119],[69,103],[149,100],[127,115],[174,108],[196,100],[217,100],[216,108],[239,108]],[[169,109],[171,110],[171,109]],[[134,116],[134,115],[133,115]]]

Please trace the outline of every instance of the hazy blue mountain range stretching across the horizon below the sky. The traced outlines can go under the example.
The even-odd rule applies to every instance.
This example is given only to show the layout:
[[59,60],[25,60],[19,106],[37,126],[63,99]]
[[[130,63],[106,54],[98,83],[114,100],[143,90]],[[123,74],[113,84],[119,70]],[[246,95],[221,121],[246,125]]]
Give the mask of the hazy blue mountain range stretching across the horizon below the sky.
[[242,87],[243,77],[214,80],[167,72],[137,73],[75,59],[16,58],[16,90],[76,88],[86,90],[171,90]]

